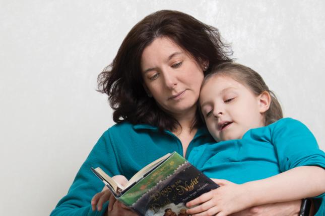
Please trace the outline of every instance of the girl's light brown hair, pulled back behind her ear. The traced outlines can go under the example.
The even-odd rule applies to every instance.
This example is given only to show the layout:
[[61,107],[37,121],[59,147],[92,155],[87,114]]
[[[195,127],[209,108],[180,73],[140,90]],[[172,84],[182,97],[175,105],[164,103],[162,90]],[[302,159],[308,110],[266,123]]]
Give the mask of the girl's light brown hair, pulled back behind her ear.
[[269,110],[265,113],[265,125],[270,125],[283,118],[281,105],[277,97],[269,89],[262,76],[259,75],[256,71],[237,63],[222,63],[211,69],[211,73],[204,78],[202,86],[209,78],[216,75],[225,75],[231,77],[237,82],[247,86],[256,96],[260,95],[264,91],[269,92],[271,95],[271,104]]

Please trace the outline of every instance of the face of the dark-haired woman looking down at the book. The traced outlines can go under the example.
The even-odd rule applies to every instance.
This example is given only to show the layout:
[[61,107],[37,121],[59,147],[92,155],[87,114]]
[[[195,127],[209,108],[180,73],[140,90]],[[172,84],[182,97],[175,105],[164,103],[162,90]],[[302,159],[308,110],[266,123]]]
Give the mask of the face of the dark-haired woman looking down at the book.
[[155,39],[141,58],[148,93],[173,116],[195,113],[204,78],[203,65],[169,38]]

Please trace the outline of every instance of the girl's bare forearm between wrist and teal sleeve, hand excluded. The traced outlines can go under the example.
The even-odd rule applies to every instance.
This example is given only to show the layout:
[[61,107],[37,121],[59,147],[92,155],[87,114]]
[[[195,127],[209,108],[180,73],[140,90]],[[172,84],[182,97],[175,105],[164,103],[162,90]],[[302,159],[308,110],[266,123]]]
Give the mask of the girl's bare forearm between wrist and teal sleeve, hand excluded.
[[325,192],[325,169],[296,167],[270,178],[244,183],[252,206],[318,196]]

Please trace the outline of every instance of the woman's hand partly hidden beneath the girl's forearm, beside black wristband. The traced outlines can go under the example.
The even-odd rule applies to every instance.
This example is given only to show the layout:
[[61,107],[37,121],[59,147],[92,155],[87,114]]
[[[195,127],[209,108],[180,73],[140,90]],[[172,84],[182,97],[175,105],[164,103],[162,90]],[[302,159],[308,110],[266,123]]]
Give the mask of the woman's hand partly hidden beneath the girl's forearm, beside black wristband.
[[[301,200],[258,205],[230,216],[298,216]],[[313,215],[313,214],[311,214]]]

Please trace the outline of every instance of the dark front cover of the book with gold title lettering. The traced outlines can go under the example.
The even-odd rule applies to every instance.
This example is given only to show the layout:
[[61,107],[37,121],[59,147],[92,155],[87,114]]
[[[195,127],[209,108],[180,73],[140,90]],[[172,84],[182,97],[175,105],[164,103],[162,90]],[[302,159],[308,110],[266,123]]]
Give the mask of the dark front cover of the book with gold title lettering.
[[217,187],[217,184],[186,161],[167,179],[139,198],[132,207],[146,212],[146,216],[188,216],[186,202]]

